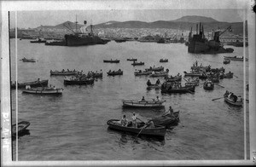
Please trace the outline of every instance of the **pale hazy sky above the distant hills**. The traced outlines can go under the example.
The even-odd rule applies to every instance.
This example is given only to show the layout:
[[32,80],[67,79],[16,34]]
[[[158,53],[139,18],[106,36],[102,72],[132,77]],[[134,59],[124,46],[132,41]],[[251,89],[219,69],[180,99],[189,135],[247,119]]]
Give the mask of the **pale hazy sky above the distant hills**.
[[[109,20],[127,21],[141,20],[152,22],[156,20],[176,20],[185,15],[201,15],[212,17],[218,21],[241,22],[241,9],[109,9],[109,10],[43,10],[18,11],[18,27],[35,28],[40,25],[55,26],[64,21],[77,20],[83,24],[99,24]],[[15,26],[15,13],[10,14],[10,25]]]

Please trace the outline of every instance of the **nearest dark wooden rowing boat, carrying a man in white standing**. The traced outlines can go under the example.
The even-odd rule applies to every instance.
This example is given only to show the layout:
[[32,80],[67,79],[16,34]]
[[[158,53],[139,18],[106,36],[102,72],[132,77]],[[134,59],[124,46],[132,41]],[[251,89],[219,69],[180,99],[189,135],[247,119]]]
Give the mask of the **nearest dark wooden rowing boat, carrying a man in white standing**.
[[137,128],[135,128],[132,127],[131,122],[127,126],[122,126],[119,124],[119,119],[110,119],[107,124],[110,129],[131,132],[137,135],[152,135],[159,137],[165,137],[166,135],[166,128],[160,125],[155,125],[153,128],[147,128],[144,126],[144,123],[138,123]]

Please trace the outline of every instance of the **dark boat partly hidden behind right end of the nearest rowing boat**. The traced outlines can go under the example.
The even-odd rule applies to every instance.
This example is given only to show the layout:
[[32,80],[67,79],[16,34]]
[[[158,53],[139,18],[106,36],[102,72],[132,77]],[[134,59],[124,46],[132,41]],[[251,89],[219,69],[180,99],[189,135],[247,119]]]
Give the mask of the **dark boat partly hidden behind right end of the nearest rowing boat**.
[[169,129],[171,126],[175,126],[179,122],[179,111],[173,112],[173,116],[171,114],[164,114],[157,118],[150,119],[154,122],[155,125],[165,126],[166,129]]

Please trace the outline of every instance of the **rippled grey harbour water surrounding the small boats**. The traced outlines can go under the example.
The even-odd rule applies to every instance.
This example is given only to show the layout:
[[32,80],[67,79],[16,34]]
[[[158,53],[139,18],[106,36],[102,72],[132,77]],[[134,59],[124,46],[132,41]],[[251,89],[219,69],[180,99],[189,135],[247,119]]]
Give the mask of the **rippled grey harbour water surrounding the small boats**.
[[[63,94],[26,95],[18,90],[19,121],[31,123],[30,135],[18,140],[19,160],[190,160],[190,159],[243,159],[243,108],[231,107],[222,97],[225,90],[243,95],[243,62],[231,61],[224,65],[224,55],[242,55],[242,48],[232,54],[193,55],[182,43],[110,42],[105,45],[63,47],[45,46],[43,43],[18,41],[19,83],[49,79],[49,84],[63,88]],[[36,63],[20,61],[34,58]],[[145,66],[131,66],[127,58],[137,58]],[[160,63],[160,58],[169,62]],[[103,63],[104,59],[119,59],[119,64]],[[135,77],[136,69],[165,66],[172,76],[189,72],[193,62],[203,66],[224,66],[225,72],[236,77],[224,78],[212,91],[203,89],[203,81],[195,94],[161,94],[160,90],[147,90],[148,77]],[[15,81],[15,40],[11,39],[11,77]],[[248,67],[248,65],[247,65]],[[63,84],[63,77],[50,76],[50,70],[62,69],[100,71],[103,78],[93,85]],[[124,71],[123,76],[108,77],[109,70]],[[157,78],[149,78],[155,83]],[[164,78],[160,78],[162,83]],[[185,81],[182,81],[184,84]],[[15,122],[15,90],[12,90],[13,121]],[[247,92],[248,94],[248,92]],[[108,119],[131,119],[132,112],[146,120],[163,111],[126,109],[122,99],[166,100],[165,108],[180,111],[181,122],[167,130],[164,140],[138,137],[108,130]],[[248,108],[248,104],[247,104]],[[248,144],[247,144],[248,145]],[[15,159],[15,141],[13,141]]]

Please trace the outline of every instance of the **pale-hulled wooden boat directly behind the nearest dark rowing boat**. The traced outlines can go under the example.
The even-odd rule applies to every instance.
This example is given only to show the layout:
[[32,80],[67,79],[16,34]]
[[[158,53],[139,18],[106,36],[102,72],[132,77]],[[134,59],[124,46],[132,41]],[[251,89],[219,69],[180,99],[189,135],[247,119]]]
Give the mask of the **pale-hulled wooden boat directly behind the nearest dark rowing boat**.
[[123,100],[123,107],[154,108],[164,107],[165,101]]

